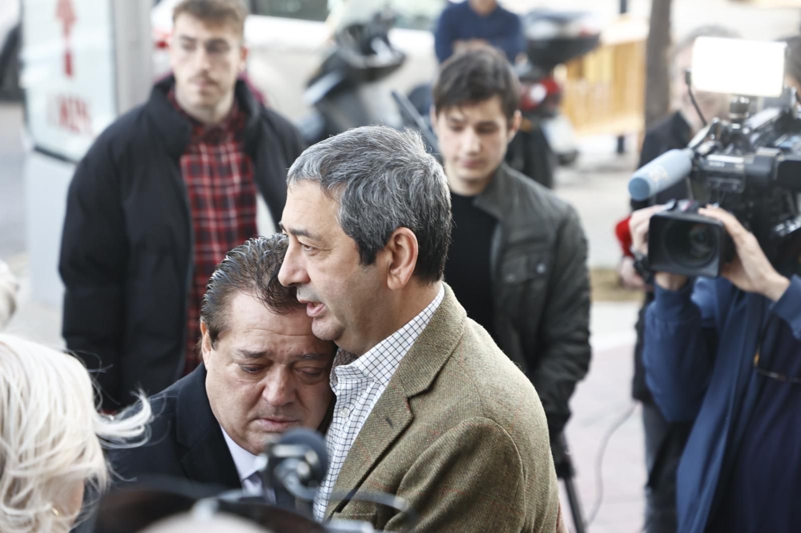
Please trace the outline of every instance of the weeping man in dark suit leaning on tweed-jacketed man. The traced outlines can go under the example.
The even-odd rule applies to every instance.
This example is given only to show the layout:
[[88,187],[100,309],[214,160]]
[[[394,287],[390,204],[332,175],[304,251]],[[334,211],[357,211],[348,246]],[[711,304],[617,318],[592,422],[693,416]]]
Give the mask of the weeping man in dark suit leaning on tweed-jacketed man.
[[167,475],[260,491],[268,439],[324,423],[335,347],[277,281],[286,247],[284,235],[252,238],[217,266],[200,313],[203,364],[151,398],[147,444],[111,452],[119,483]]

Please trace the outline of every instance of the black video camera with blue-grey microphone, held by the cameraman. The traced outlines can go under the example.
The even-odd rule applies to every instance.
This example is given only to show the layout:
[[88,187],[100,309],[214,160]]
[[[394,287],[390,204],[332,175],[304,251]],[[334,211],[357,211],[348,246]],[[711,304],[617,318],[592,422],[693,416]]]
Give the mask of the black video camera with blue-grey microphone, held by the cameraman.
[[[673,202],[651,218],[648,262],[653,271],[715,278],[735,257],[721,222],[698,214],[718,205],[755,234],[777,268],[801,251],[801,115],[795,91],[781,107],[748,117],[747,98],[731,105],[730,121],[715,118],[685,150],[671,150],[639,169],[630,182],[646,199],[687,180],[689,202]],[[639,180],[638,186],[634,186]],[[646,185],[643,185],[646,184]],[[636,194],[640,198],[636,198]]]

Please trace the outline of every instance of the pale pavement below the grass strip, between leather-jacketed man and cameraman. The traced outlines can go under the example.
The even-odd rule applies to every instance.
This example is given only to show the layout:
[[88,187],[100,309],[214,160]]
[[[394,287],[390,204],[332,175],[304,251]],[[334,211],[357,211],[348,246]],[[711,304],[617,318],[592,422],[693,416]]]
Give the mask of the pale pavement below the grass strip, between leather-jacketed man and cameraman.
[[[631,399],[637,311],[636,303],[594,304],[592,367],[571,402],[574,416],[567,426],[567,439],[586,518],[598,509],[588,527],[593,533],[638,533],[643,525],[646,472],[642,422],[639,407]],[[604,439],[618,424],[598,463]],[[601,494],[599,483],[603,498],[601,506],[596,507]],[[563,505],[566,501],[563,496]]]

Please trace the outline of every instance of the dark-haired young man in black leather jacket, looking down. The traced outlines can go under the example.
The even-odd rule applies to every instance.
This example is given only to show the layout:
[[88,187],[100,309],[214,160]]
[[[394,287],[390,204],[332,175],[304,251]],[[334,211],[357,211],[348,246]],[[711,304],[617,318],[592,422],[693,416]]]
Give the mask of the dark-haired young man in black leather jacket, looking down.
[[445,280],[531,380],[553,440],[590,365],[587,242],[572,206],[503,163],[519,94],[509,63],[489,47],[441,67],[431,120],[453,208]]

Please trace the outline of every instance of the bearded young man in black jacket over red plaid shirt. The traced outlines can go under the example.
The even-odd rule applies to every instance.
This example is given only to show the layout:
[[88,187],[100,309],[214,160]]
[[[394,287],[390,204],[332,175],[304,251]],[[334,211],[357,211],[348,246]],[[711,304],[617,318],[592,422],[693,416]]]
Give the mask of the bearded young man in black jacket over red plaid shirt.
[[[246,16],[239,0],[180,2],[173,75],[99,136],[70,184],[62,332],[99,370],[107,410],[197,366],[209,275],[227,250],[272,233],[284,208],[303,143],[238,80]],[[263,200],[272,217],[260,231]]]

